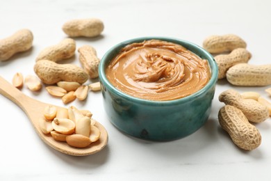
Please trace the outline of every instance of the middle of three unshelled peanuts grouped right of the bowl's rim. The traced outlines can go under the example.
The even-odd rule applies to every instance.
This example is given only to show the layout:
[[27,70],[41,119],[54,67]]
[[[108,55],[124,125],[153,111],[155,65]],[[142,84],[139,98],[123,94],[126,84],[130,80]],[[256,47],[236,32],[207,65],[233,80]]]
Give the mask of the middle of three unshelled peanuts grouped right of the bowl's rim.
[[223,79],[226,77],[226,72],[229,68],[237,63],[247,63],[252,57],[247,49],[238,48],[233,49],[230,54],[221,54],[215,56],[215,62],[218,66],[218,79]]

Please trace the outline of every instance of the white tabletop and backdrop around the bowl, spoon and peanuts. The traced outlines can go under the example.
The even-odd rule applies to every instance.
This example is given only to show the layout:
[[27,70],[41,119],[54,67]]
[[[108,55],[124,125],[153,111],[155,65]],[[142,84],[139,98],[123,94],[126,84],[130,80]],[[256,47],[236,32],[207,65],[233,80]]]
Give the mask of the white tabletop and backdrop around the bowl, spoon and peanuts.
[[[0,62],[0,75],[11,81],[16,72],[35,74],[38,53],[67,38],[61,27],[69,19],[98,17],[105,29],[98,38],[75,38],[76,46],[92,45],[101,58],[113,45],[141,36],[168,36],[202,45],[213,34],[235,33],[247,42],[251,64],[271,60],[271,1],[161,1],[161,0],[51,0],[0,1],[0,39],[23,28],[34,35],[33,48]],[[80,65],[78,53],[63,63]],[[90,81],[89,81],[90,82]],[[13,102],[0,95],[0,180],[270,180],[270,118],[256,127],[262,143],[256,150],[240,150],[218,123],[223,106],[218,95],[234,88],[240,92],[265,93],[267,87],[237,87],[218,81],[211,116],[207,123],[184,139],[152,142],[134,139],[119,132],[106,118],[101,93],[90,93],[85,102],[74,101],[79,109],[89,109],[108,130],[104,150],[87,157],[72,157],[49,148],[35,133],[31,123]],[[43,88],[26,95],[64,106]],[[67,105],[67,106],[69,106]]]

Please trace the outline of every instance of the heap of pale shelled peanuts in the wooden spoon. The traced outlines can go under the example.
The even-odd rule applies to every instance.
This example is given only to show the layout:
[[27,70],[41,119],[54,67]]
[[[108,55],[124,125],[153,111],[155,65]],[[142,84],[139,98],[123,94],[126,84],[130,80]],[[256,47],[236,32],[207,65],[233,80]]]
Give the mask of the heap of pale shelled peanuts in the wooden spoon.
[[51,134],[56,141],[67,142],[76,148],[88,147],[99,140],[101,132],[95,126],[92,113],[86,111],[88,113],[85,116],[82,112],[76,107],[66,109],[47,106],[44,116],[40,118],[40,130],[44,134]]

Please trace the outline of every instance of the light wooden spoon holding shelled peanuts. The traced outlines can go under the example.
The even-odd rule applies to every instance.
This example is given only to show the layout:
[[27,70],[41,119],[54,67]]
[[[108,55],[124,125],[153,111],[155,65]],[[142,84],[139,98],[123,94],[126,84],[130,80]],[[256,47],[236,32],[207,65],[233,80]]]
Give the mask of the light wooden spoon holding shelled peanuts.
[[42,141],[47,143],[47,145],[51,146],[51,148],[54,148],[67,155],[85,156],[99,152],[108,142],[108,134],[106,129],[98,122],[95,123],[95,126],[101,131],[99,141],[91,143],[86,148],[73,148],[67,145],[65,142],[55,141],[51,134],[42,133],[38,126],[38,121],[43,116],[44,107],[48,106],[49,104],[45,104],[44,102],[34,100],[33,98],[24,95],[24,93],[8,83],[8,81],[3,79],[1,76],[0,93],[1,95],[4,95],[8,99],[12,100],[26,113],[28,118],[31,120],[33,127],[35,128],[35,131],[38,133],[38,136],[40,136]]

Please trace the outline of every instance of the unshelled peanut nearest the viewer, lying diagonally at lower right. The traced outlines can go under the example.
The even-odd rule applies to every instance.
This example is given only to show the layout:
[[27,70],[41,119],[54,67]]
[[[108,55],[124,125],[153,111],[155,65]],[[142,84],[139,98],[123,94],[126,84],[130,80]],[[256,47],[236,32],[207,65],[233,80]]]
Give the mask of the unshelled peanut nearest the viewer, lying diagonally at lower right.
[[249,123],[240,109],[226,105],[218,113],[219,123],[233,143],[244,150],[254,150],[261,145],[261,134],[258,129]]

